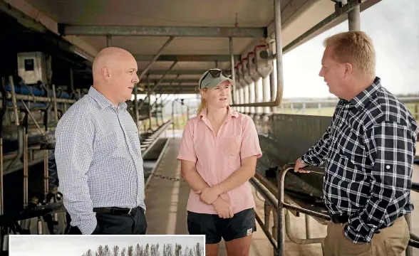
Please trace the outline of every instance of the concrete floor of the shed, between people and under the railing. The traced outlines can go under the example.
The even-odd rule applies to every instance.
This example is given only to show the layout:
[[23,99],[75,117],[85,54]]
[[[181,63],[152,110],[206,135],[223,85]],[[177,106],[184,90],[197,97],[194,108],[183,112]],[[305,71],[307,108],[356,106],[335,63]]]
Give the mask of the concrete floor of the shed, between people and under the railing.
[[[171,133],[171,132],[170,132]],[[171,135],[171,134],[170,134]],[[177,161],[177,152],[180,146],[180,134],[176,132],[175,138],[170,139],[166,153],[162,156],[160,164],[156,166],[155,174],[180,177],[180,163]],[[415,165],[413,181],[419,182],[419,166]],[[164,178],[151,178],[148,188],[145,191],[145,204],[148,207],[146,217],[148,219],[148,234],[150,235],[187,235],[186,206],[190,192],[189,186],[184,181],[170,181]],[[155,196],[157,195],[158,196]],[[264,220],[264,201],[262,196],[254,191],[254,198],[257,204],[257,213]],[[412,200],[415,206],[419,206],[419,193],[412,193]],[[273,223],[271,213],[270,225]],[[295,238],[306,238],[305,215],[300,217],[290,215],[292,235]],[[309,218],[311,238],[324,238],[326,226],[320,225],[314,219]],[[415,210],[412,215],[413,233],[419,235],[419,211]],[[286,237],[286,253],[289,256],[321,256],[321,245],[296,245]],[[224,242],[220,243],[219,256],[227,255]],[[273,256],[273,247],[262,228],[257,226],[257,232],[253,234],[250,255]],[[419,250],[413,248],[413,255],[419,256]]]

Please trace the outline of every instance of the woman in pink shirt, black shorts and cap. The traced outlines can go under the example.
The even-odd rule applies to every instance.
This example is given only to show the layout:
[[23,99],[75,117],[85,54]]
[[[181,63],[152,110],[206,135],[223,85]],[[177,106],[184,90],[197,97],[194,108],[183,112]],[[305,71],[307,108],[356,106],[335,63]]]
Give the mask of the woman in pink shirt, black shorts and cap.
[[229,107],[234,81],[207,70],[200,78],[197,117],[185,125],[177,159],[192,188],[187,203],[190,235],[205,235],[206,255],[217,255],[223,238],[227,254],[249,255],[256,229],[249,179],[262,156],[253,120]]

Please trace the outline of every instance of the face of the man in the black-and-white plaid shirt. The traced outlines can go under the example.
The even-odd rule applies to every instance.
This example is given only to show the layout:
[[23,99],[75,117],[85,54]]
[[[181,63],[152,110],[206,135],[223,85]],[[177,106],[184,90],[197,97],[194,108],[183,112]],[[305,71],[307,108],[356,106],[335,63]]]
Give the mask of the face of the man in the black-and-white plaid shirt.
[[345,98],[346,67],[345,64],[333,60],[333,48],[331,47],[326,47],[324,50],[319,76],[324,78],[324,82],[329,87],[329,92],[337,97]]

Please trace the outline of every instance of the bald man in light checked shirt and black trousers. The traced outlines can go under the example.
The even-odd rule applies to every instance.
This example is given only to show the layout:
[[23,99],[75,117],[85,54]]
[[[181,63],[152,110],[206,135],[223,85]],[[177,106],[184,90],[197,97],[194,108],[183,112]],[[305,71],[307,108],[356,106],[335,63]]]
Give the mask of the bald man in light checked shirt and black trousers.
[[137,62],[120,48],[93,61],[93,86],[56,128],[56,164],[67,234],[143,235],[147,230],[140,138],[127,111]]

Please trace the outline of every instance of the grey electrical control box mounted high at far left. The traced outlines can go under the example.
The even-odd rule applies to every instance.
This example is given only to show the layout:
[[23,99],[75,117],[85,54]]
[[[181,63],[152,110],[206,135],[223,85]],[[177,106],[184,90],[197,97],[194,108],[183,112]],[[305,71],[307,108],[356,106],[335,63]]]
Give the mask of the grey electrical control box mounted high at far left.
[[51,58],[41,52],[18,53],[18,75],[28,85],[51,82]]

